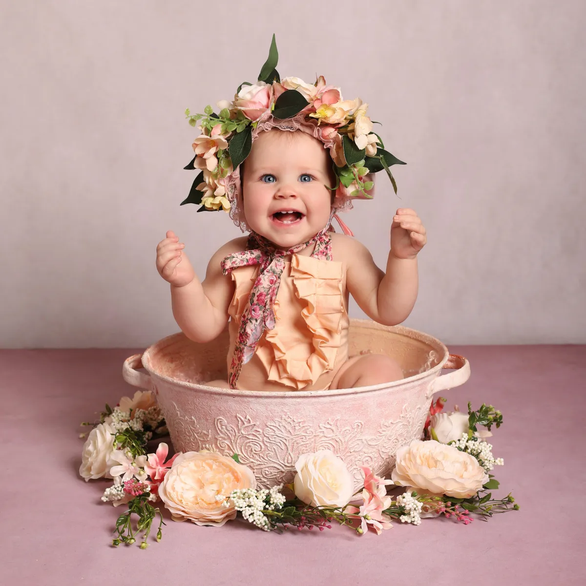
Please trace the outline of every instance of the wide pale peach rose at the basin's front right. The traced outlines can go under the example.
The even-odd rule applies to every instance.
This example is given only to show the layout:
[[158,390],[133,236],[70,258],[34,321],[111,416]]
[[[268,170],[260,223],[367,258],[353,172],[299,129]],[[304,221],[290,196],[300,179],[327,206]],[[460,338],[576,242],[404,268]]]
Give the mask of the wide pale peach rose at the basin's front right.
[[475,495],[489,481],[476,458],[435,440],[413,440],[399,448],[391,479],[399,486],[415,486],[459,499]]

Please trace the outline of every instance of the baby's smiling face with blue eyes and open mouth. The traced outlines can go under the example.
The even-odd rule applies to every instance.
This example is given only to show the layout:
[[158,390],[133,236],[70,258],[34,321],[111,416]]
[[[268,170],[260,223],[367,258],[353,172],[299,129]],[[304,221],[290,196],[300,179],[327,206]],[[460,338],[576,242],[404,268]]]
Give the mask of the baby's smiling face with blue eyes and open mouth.
[[323,144],[305,132],[261,132],[244,163],[248,226],[280,248],[311,239],[329,219],[331,165]]

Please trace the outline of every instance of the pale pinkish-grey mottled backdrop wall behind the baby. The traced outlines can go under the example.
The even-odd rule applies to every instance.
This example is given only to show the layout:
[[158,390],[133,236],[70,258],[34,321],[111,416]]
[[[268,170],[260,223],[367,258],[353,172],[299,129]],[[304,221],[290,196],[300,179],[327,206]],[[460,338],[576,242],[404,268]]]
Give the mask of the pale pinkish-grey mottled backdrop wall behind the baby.
[[[360,96],[408,165],[343,219],[384,266],[428,229],[406,325],[445,343],[586,341],[581,0],[2,2],[0,347],[147,346],[178,328],[156,243],[203,274],[237,235],[179,207],[183,111],[282,76]],[[350,315],[363,317],[352,306]]]

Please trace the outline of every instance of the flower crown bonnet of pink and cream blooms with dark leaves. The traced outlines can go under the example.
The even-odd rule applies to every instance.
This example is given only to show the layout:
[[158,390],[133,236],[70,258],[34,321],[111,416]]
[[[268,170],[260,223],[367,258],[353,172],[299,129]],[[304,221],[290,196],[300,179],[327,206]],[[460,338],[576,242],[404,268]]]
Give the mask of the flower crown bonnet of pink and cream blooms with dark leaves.
[[237,209],[239,167],[250,154],[258,133],[272,127],[304,131],[329,148],[336,183],[328,189],[336,193],[336,207],[355,197],[372,199],[373,173],[382,169],[397,193],[390,167],[406,163],[385,151],[380,136],[372,132],[373,125],[380,122],[373,122],[366,115],[368,104],[360,98],[343,100],[340,88],[327,85],[323,76],[314,84],[298,77],[281,80],[275,69],[277,62],[277,43],[272,35],[268,59],[257,83],[241,83],[233,101],[217,103],[219,114],[210,105],[204,114],[185,110],[189,124],[195,126],[199,121],[202,130],[193,142],[195,157],[185,169],[202,171],[180,205],[201,205],[198,212],[223,209],[244,229],[246,223]]

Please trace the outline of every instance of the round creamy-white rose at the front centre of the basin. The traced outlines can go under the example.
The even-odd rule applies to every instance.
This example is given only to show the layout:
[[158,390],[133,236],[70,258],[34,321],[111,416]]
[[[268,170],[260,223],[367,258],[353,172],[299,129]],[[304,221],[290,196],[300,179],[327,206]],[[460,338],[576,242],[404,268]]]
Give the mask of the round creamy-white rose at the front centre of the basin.
[[352,500],[354,479],[330,449],[302,454],[295,469],[295,495],[307,505],[342,507]]

